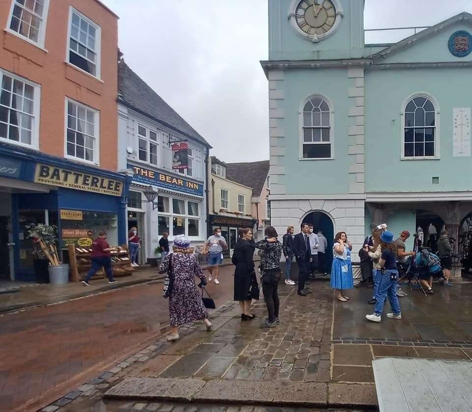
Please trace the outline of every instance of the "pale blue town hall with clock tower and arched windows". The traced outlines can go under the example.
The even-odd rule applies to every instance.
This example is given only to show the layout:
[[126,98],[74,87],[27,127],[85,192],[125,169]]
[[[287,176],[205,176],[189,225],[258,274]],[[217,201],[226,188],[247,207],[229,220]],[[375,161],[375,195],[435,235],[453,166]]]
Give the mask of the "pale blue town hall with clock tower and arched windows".
[[308,221],[328,240],[346,231],[357,252],[373,224],[395,234],[421,228],[425,242],[445,226],[459,240],[456,252],[466,254],[472,15],[397,43],[365,44],[364,0],[268,4],[262,66],[279,234]]

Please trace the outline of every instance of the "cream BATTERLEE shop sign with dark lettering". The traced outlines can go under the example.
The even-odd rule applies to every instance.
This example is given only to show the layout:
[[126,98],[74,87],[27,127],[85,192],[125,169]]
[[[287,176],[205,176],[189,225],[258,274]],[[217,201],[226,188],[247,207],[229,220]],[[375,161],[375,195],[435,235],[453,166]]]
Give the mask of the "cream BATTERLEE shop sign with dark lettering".
[[77,172],[38,163],[34,174],[36,183],[51,184],[68,189],[84,190],[86,192],[104,195],[121,196],[123,182],[120,180],[100,177],[89,173]]

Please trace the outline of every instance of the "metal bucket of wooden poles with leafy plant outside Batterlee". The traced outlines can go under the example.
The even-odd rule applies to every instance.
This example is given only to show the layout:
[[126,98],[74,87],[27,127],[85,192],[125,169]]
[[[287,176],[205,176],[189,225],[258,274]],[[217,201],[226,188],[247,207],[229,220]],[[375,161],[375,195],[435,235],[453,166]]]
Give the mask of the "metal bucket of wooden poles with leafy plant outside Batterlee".
[[58,240],[56,226],[45,225],[44,223],[26,226],[28,237],[34,245],[34,253],[40,259],[47,259],[49,266],[49,281],[53,285],[60,285],[69,282],[69,265],[59,262]]

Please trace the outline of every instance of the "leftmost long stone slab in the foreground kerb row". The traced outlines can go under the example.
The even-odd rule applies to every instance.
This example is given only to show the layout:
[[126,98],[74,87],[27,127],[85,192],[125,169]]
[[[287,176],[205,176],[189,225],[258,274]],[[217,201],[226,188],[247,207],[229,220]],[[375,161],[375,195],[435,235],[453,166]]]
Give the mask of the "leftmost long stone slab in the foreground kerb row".
[[107,392],[105,398],[190,401],[205,385],[201,379],[125,378]]

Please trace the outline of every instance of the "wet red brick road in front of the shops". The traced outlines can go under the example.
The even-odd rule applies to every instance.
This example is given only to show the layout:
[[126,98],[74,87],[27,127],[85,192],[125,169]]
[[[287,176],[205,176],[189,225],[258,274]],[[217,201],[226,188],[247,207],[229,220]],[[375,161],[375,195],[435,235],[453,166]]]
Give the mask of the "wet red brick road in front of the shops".
[[[217,304],[233,295],[231,269],[208,287]],[[149,345],[169,321],[161,282],[0,316],[0,410],[36,411]]]

